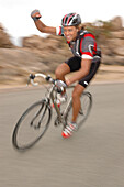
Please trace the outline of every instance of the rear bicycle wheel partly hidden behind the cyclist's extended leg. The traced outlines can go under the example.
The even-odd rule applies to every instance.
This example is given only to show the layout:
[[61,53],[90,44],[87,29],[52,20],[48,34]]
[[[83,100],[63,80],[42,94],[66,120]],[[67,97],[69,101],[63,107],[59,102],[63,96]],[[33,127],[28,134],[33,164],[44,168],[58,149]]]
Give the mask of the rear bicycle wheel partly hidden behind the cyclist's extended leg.
[[[79,111],[79,114],[77,117],[78,129],[83,124],[83,122],[87,120],[90,113],[90,110],[92,107],[92,95],[88,91],[83,92],[80,97],[80,101],[81,101],[81,110]],[[86,102],[86,106],[84,106],[84,102]],[[68,108],[68,112],[65,119],[66,124],[68,124],[68,122],[71,121],[71,117],[72,117],[72,101]]]

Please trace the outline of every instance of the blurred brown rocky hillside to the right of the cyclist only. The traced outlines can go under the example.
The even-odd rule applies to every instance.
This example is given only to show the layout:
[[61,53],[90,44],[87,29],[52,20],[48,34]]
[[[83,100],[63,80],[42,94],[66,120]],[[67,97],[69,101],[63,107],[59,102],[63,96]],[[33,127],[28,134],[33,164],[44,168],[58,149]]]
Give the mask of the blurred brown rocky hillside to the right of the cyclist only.
[[[124,28],[122,18],[112,21],[98,21],[90,24],[89,30],[94,33],[102,50],[102,63],[109,65],[124,65]],[[98,26],[97,26],[98,25]]]

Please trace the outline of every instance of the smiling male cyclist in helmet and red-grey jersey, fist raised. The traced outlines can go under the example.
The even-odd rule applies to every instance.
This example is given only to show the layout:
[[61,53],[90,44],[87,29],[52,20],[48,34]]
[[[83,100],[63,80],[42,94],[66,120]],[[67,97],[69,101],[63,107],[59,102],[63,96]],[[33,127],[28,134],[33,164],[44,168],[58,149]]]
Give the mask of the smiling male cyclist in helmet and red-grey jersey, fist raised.
[[[84,30],[81,18],[77,13],[68,13],[61,20],[61,26],[52,28],[45,25],[41,20],[38,10],[31,13],[34,23],[43,33],[65,36],[74,56],[60,64],[55,70],[56,78],[64,80],[67,86],[78,80],[72,91],[72,119],[63,130],[61,135],[69,138],[77,130],[77,117],[80,110],[80,96],[95,75],[101,63],[101,51],[97,45],[94,36]],[[65,79],[65,75],[76,72],[75,76]],[[66,94],[63,94],[63,99]]]

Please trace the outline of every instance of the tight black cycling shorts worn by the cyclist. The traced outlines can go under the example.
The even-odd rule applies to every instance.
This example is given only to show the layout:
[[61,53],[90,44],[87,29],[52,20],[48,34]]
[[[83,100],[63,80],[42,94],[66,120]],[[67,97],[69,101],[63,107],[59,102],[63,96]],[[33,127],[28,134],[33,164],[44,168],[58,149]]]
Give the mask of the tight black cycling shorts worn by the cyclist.
[[[70,67],[70,72],[76,72],[81,68],[81,57],[74,56],[65,63]],[[98,70],[100,63],[101,63],[100,58],[94,58],[92,61],[89,74],[79,80],[79,84],[81,86],[86,88],[89,85],[90,80],[93,78]]]

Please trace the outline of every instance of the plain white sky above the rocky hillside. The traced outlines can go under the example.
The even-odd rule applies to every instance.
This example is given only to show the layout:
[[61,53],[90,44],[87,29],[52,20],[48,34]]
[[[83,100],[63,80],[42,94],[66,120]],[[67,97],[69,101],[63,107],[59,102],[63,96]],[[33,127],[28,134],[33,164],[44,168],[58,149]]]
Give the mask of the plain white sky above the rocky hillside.
[[34,9],[49,26],[59,26],[61,18],[70,12],[79,13],[83,23],[109,21],[116,15],[124,19],[123,0],[0,0],[0,23],[16,45],[24,36],[44,36],[31,19]]

